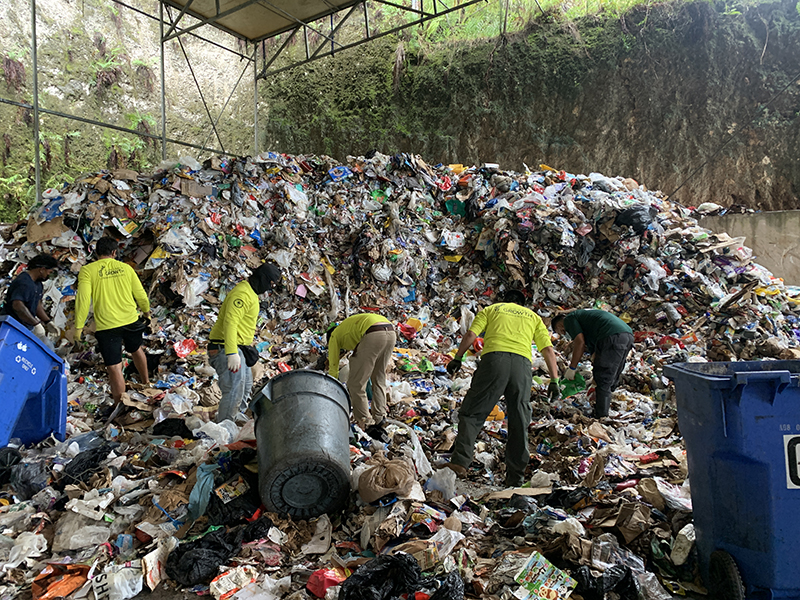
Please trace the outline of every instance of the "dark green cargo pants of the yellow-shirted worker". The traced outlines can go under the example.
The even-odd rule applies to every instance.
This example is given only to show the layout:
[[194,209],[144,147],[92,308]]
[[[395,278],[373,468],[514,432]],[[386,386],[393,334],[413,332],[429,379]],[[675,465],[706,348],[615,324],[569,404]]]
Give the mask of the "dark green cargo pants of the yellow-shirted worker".
[[520,485],[530,460],[528,425],[531,422],[531,361],[512,352],[490,352],[481,359],[458,410],[458,436],[450,462],[469,467],[475,440],[500,396],[505,395],[508,417],[506,485]]

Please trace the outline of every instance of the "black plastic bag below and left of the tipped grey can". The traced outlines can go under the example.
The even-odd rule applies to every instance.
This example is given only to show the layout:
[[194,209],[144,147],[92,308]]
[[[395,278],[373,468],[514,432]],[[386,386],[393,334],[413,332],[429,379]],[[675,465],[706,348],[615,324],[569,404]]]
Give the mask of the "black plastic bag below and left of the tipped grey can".
[[[213,494],[212,494],[213,496]],[[242,547],[243,529],[212,531],[199,540],[180,544],[167,557],[167,576],[184,587],[206,583],[219,574]]]

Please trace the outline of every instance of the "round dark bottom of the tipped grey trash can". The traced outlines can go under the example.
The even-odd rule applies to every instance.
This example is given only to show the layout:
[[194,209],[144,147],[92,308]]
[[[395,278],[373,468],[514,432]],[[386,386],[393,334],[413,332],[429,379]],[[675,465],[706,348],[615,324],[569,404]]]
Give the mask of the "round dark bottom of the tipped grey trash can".
[[347,501],[349,482],[336,464],[307,458],[300,464],[276,469],[263,486],[267,508],[296,519],[336,512]]

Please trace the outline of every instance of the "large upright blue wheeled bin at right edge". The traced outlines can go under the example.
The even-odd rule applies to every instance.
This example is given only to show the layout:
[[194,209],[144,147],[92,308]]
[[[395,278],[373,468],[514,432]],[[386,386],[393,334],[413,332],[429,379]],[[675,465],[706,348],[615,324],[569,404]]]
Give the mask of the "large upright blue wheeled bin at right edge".
[[732,558],[747,598],[800,598],[800,361],[682,363],[664,374],[675,382],[706,583]]

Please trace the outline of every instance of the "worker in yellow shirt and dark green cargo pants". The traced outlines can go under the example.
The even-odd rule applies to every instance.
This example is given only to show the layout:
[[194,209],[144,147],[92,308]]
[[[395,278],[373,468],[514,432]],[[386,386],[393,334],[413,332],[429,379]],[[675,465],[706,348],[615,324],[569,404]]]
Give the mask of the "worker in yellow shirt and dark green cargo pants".
[[447,465],[459,476],[467,473],[478,433],[500,396],[504,395],[508,415],[506,486],[522,485],[530,460],[528,425],[531,422],[532,342],[544,357],[550,374],[550,399],[560,396],[556,353],[550,333],[539,315],[525,308],[524,303],[522,292],[509,290],[503,294],[502,302],[478,312],[462,338],[455,358],[447,365],[447,372],[455,375],[461,368],[464,353],[482,332],[486,332],[481,362],[458,410],[458,435]]

